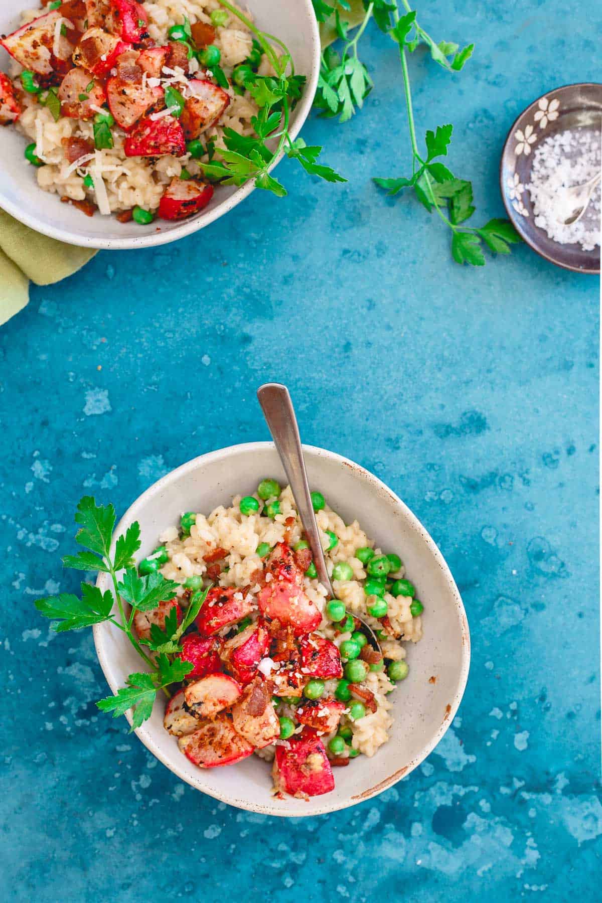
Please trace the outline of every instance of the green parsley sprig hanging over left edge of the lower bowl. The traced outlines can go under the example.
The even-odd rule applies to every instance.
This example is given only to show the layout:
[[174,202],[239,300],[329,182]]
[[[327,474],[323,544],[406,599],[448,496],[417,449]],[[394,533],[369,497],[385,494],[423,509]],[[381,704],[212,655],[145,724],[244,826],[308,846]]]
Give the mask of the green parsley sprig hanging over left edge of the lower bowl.
[[[136,611],[151,611],[160,602],[173,599],[178,583],[165,580],[161,573],[140,576],[134,566],[133,556],[140,548],[140,526],[137,521],[128,527],[125,535],[116,540],[115,554],[111,556],[111,537],[115,526],[115,508],[112,505],[97,505],[94,498],[85,496],[78,505],[75,521],[79,524],[76,542],[85,551],[76,555],[65,555],[65,567],[77,571],[100,571],[109,574],[113,591],[101,591],[97,586],[81,583],[81,595],[61,592],[58,596],[38,599],[35,607],[44,618],[51,618],[51,628],[57,633],[65,630],[79,630],[110,621],[122,630],[144,660],[150,672],[136,672],[129,675],[125,687],[115,696],[101,699],[97,706],[103,712],[113,712],[113,716],[123,715],[133,709],[133,728],[140,727],[151,717],[153,703],[158,691],[170,695],[171,684],[180,683],[190,674],[192,665],[183,661],[180,645],[184,631],[199,614],[208,589],[199,590],[190,599],[190,606],[178,626],[175,607],[165,619],[165,629],[151,626],[151,638],[139,639],[133,630]],[[119,580],[119,573],[123,572]],[[124,602],[131,606],[129,615],[125,613]],[[117,614],[112,612],[117,607]],[[143,646],[153,652],[148,655]]]

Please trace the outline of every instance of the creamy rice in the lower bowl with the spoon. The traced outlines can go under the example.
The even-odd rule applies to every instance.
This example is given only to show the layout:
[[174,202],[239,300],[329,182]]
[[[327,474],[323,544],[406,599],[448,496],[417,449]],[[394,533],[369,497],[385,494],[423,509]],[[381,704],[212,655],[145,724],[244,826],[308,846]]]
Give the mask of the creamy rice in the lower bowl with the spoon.
[[[197,514],[195,523],[190,526],[190,535],[181,535],[176,527],[167,529],[160,537],[169,556],[169,561],[161,568],[163,576],[181,584],[188,579],[189,585],[190,578],[207,577],[210,565],[206,563],[205,557],[220,547],[227,554],[218,575],[219,584],[224,587],[236,587],[241,591],[247,590],[250,599],[255,600],[256,594],[260,591],[260,584],[257,582],[258,573],[264,572],[266,563],[265,556],[262,558],[256,553],[257,547],[262,543],[273,547],[282,541],[294,547],[302,537],[301,521],[290,487],[282,490],[279,497],[280,513],[275,517],[265,517],[267,500],[262,500],[258,495],[255,495],[255,498],[258,510],[251,514],[241,513],[241,497],[236,496],[232,500],[231,507],[219,506],[208,517],[202,513]],[[374,603],[375,597],[366,596],[364,584],[368,574],[364,564],[356,557],[358,549],[374,548],[374,542],[362,530],[357,520],[346,525],[328,505],[319,510],[316,517],[329,574],[337,563],[347,563],[353,572],[352,579],[333,581],[338,599],[345,603],[347,612],[360,615],[375,629],[383,629],[383,620],[375,619],[368,614],[367,607]],[[332,549],[329,549],[331,539],[327,530],[338,538],[338,544]],[[381,550],[375,548],[375,555],[380,554]],[[402,565],[395,573],[388,574],[388,582],[402,579],[404,573]],[[350,639],[351,632],[341,633],[338,624],[326,616],[327,592],[320,582],[305,576],[303,591],[322,613],[318,628],[320,634],[329,638],[338,647]],[[186,590],[183,585],[180,594],[185,604]],[[416,643],[421,639],[421,617],[420,615],[412,617],[410,608],[412,598],[407,595],[395,597],[387,591],[384,600],[387,603],[388,625],[381,634],[382,651],[384,658],[389,662],[400,662],[405,657],[403,643],[407,641]],[[420,603],[418,605],[421,608]],[[255,619],[257,612],[255,611],[251,617]],[[324,694],[332,696],[337,684],[336,679],[326,681]],[[376,750],[388,740],[388,731],[393,723],[392,703],[388,694],[394,689],[394,684],[386,671],[381,670],[370,671],[362,685],[374,694],[376,711],[366,712],[365,717],[357,721],[351,721],[344,715],[341,723],[347,724],[353,731],[351,749],[366,756],[374,756]],[[281,716],[293,717],[294,712],[295,707],[284,702],[281,703],[278,713]],[[322,737],[325,746],[336,733],[335,730]],[[257,750],[257,755],[264,759],[273,759],[273,745]],[[345,755],[348,755],[348,750]]]

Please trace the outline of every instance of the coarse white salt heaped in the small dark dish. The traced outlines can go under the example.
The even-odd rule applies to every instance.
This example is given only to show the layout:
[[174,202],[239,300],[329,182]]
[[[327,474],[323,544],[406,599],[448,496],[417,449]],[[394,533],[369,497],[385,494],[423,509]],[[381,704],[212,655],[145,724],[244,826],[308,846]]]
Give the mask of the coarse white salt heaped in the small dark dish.
[[549,135],[533,152],[531,182],[525,185],[531,195],[533,221],[560,245],[579,244],[591,251],[600,244],[599,182],[579,222],[562,224],[575,207],[567,189],[600,172],[600,142],[597,129],[582,126]]

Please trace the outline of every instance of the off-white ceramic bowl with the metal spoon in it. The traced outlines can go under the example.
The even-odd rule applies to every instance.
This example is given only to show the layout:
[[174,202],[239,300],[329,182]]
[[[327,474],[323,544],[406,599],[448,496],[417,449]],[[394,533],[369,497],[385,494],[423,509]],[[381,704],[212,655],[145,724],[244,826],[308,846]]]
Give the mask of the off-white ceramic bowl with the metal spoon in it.
[[[447,731],[464,693],[470,660],[468,622],[458,588],[431,536],[400,498],[364,468],[333,452],[303,447],[310,486],[349,523],[357,517],[367,535],[399,554],[424,603],[424,636],[408,644],[410,674],[390,697],[394,701],[391,738],[375,757],[359,756],[348,768],[335,768],[332,793],[308,803],[270,796],[270,765],[251,756],[225,768],[196,768],[163,729],[163,707],[135,731],[144,746],[174,774],[209,796],[267,815],[321,815],[363,802],[391,787],[416,768]],[[147,489],[126,511],[116,535],[137,520],[142,530],[139,559],[149,554],[167,527],[183,511],[208,513],[228,506],[240,493],[250,494],[264,477],[285,485],[272,442],[249,442],[210,452],[182,464]],[[97,585],[110,589],[106,574]],[[141,670],[141,660],[125,635],[111,624],[94,628],[98,660],[115,693],[127,675]],[[432,678],[435,678],[433,681]]]

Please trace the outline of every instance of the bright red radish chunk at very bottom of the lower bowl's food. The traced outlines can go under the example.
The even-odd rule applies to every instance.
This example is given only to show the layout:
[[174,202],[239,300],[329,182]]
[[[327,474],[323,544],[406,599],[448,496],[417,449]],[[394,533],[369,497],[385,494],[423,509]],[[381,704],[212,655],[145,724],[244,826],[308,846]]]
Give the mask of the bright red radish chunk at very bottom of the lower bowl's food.
[[301,799],[334,790],[335,779],[324,744],[309,728],[276,746],[273,782],[278,790]]

